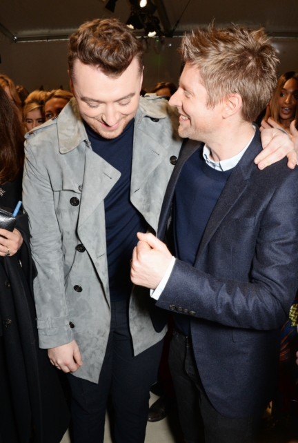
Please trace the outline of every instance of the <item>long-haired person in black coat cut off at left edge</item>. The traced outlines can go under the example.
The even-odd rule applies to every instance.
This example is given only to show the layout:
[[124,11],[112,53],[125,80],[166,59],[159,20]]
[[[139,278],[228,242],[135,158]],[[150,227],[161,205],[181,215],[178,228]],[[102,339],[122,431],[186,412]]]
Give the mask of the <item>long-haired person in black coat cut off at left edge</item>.
[[[23,133],[17,109],[0,88],[0,207],[21,198]],[[69,413],[57,370],[38,346],[28,217],[0,228],[0,443],[59,443]]]

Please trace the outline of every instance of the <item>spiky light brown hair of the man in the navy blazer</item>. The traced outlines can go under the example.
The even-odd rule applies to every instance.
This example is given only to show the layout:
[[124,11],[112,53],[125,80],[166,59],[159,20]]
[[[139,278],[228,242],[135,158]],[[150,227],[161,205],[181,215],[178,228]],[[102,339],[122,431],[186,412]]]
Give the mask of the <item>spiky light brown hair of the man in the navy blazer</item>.
[[242,117],[254,121],[270,101],[279,59],[263,29],[198,29],[183,37],[181,55],[199,68],[211,108],[236,92],[243,101]]

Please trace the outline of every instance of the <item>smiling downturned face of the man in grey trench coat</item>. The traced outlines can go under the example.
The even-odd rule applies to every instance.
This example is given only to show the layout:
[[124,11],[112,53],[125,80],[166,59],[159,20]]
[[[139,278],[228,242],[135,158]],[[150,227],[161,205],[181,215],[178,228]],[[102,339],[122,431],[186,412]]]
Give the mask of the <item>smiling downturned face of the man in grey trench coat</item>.
[[119,77],[108,77],[96,66],[74,62],[70,81],[79,112],[101,137],[115,139],[135,117],[143,75],[133,59]]

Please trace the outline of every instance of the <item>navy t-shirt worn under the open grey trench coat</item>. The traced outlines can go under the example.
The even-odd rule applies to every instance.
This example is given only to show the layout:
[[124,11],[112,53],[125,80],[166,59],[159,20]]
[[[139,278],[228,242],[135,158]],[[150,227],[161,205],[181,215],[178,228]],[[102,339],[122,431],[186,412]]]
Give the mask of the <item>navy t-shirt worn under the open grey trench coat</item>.
[[143,215],[130,202],[134,121],[132,119],[115,139],[101,137],[84,122],[92,150],[121,173],[121,177],[104,199],[111,302],[130,296],[132,250],[138,242],[137,232],[146,233],[148,226]]

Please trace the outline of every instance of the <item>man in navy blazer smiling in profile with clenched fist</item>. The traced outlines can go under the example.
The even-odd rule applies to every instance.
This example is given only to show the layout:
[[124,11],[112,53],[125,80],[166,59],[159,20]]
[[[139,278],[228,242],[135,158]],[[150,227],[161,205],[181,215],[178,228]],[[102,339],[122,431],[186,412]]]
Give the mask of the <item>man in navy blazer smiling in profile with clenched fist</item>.
[[298,170],[254,163],[252,121],[270,100],[278,59],[262,30],[236,27],[192,32],[181,53],[170,104],[188,139],[158,235],[171,252],[139,233],[132,282],[174,313],[170,369],[186,442],[255,442],[298,287]]

